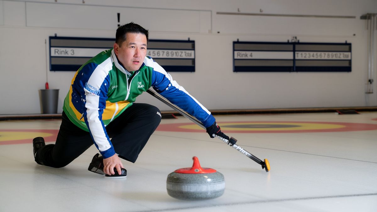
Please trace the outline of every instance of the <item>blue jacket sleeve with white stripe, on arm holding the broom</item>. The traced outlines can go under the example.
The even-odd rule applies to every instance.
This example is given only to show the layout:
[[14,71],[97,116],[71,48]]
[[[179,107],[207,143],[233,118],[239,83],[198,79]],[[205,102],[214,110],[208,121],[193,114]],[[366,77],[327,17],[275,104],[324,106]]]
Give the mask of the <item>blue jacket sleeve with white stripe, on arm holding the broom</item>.
[[153,63],[152,87],[171,103],[201,121],[207,128],[215,122],[215,117],[198,100],[173,80],[158,63]]

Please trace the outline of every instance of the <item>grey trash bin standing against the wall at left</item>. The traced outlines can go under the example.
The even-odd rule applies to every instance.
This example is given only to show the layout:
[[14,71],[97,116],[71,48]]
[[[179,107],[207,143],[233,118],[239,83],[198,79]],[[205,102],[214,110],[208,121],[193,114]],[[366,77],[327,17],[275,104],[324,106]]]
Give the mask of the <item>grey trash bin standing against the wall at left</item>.
[[42,113],[58,113],[59,89],[41,89]]

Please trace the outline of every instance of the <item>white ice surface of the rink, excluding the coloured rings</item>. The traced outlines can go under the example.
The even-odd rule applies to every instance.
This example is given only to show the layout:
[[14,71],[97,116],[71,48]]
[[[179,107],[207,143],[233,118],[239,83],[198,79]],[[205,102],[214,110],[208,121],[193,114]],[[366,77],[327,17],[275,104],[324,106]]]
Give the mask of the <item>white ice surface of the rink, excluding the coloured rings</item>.
[[[375,112],[216,116],[220,126],[226,121],[377,124],[375,118]],[[3,130],[59,126],[60,120],[0,121]],[[377,130],[228,135],[256,157],[268,158],[271,171],[205,132],[155,131],[135,164],[123,161],[128,175],[118,179],[87,171],[98,152],[94,145],[61,169],[36,164],[31,140],[0,145],[0,211],[377,211]],[[167,175],[190,167],[193,156],[224,175],[224,195],[183,201],[167,194]]]

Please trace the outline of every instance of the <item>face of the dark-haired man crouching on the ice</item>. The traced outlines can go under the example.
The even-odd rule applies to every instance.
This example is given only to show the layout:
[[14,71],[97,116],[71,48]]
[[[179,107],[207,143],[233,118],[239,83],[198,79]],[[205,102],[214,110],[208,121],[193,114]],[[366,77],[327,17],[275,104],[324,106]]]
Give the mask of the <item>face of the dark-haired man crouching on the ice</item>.
[[114,52],[127,71],[137,71],[147,55],[147,37],[141,33],[127,33],[121,46],[114,43]]

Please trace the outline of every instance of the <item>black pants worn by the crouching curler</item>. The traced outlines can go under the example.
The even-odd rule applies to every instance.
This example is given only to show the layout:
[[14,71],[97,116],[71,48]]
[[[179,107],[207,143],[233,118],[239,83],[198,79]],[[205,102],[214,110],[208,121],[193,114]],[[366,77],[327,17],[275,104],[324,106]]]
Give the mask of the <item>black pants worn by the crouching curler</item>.
[[[135,163],[139,153],[161,121],[158,108],[150,104],[133,103],[106,126],[107,134],[120,158]],[[35,161],[55,168],[64,167],[83,154],[93,140],[89,132],[78,128],[63,112],[55,144],[38,150]],[[88,161],[90,162],[90,161]]]

